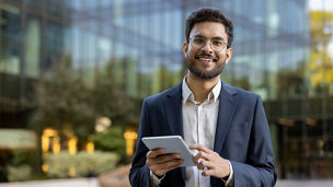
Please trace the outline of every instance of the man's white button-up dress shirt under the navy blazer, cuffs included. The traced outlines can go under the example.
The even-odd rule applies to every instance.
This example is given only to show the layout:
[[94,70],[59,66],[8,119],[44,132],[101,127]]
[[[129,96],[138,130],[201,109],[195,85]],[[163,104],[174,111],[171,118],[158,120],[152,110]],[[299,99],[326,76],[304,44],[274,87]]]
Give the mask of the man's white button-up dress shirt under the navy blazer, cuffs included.
[[[186,78],[182,84],[182,115],[184,141],[190,147],[192,144],[202,144],[209,150],[214,150],[215,132],[218,117],[219,100],[220,100],[221,82],[214,86],[208,97],[199,103],[195,101],[194,94],[186,83]],[[229,162],[229,161],[228,161]],[[232,185],[233,172],[229,162],[230,175],[227,186]],[[210,187],[210,177],[203,176],[203,171],[196,166],[187,166],[185,168],[185,186],[186,187]],[[158,186],[161,179],[158,179],[150,173],[150,179],[153,186]]]

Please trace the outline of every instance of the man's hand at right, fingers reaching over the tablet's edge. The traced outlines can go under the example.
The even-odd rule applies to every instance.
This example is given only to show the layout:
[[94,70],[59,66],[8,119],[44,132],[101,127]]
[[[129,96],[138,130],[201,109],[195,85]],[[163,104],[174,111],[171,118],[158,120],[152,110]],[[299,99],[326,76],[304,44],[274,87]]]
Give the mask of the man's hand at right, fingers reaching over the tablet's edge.
[[194,163],[197,164],[197,168],[207,168],[202,173],[203,176],[211,175],[218,178],[222,178],[230,175],[228,161],[221,157],[218,153],[199,144],[191,145],[190,149],[198,151],[198,153],[193,157]]

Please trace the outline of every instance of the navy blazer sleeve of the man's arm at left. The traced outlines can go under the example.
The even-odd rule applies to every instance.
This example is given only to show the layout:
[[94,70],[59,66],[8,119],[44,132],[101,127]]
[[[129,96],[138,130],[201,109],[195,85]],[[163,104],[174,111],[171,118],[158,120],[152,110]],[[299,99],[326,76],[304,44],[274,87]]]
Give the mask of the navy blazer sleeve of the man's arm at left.
[[151,135],[147,107],[148,104],[145,100],[141,108],[136,152],[129,172],[129,182],[133,187],[150,186],[149,168],[146,165],[146,154],[149,150],[141,141],[142,137],[149,137]]

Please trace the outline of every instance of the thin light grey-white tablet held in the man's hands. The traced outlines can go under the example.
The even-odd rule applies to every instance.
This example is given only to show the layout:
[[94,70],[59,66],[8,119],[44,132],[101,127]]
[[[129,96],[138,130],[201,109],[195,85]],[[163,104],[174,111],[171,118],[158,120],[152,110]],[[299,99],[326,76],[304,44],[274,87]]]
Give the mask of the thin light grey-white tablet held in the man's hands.
[[192,151],[187,148],[181,136],[145,137],[142,138],[142,142],[149,150],[163,148],[163,154],[179,152],[181,157],[184,160],[182,166],[196,165],[193,162]]

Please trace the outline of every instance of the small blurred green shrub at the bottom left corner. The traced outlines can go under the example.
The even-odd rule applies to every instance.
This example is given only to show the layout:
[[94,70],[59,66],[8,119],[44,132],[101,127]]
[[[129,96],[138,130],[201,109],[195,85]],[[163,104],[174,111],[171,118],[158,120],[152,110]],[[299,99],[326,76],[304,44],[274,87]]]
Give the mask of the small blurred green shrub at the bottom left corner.
[[28,165],[8,166],[8,179],[10,182],[22,182],[31,178],[32,168]]

